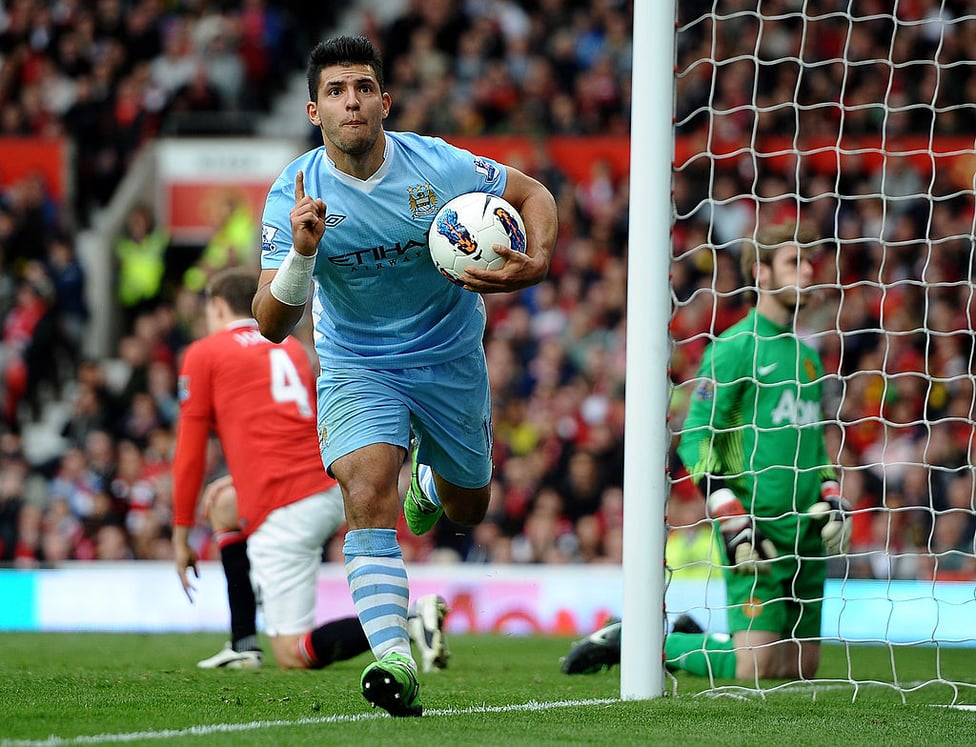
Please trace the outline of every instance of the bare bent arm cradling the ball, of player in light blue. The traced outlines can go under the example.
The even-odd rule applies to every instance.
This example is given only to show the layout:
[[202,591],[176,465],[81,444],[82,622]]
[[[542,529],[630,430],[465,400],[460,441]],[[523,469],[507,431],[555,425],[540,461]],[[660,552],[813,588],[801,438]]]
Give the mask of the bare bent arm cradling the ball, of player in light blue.
[[549,273],[552,251],[556,246],[559,221],[556,200],[539,181],[506,166],[508,174],[502,195],[519,211],[525,223],[525,252],[498,245],[495,251],[505,257],[498,270],[469,268],[461,279],[464,287],[476,293],[510,293],[535,285]]

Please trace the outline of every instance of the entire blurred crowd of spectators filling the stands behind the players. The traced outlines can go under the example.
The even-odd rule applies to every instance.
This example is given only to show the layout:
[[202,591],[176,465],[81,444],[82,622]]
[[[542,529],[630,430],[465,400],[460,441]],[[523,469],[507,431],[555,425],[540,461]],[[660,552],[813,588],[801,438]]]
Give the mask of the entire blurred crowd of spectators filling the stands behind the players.
[[[285,17],[285,5],[12,3],[0,15],[0,131],[72,137],[86,185],[80,199],[103,202],[132,149],[160,131],[165,112],[244,106],[245,96],[266,104],[269,80],[280,74],[280,50],[268,32]],[[364,14],[363,31],[385,53],[396,102],[388,125],[439,134],[626,134],[631,5],[427,0],[406,3],[389,23]],[[700,140],[692,152],[720,141],[732,147],[721,158],[677,163],[672,431],[680,429],[706,333],[744,313],[738,241],[757,220],[800,213],[830,237],[817,265],[824,287],[803,332],[836,374],[825,411],[837,421],[830,438],[846,468],[845,492],[860,509],[851,572],[976,577],[974,392],[967,376],[976,311],[971,173],[963,190],[951,181],[957,175],[933,170],[925,159],[889,159],[881,181],[881,163],[870,159],[849,159],[838,175],[756,155],[764,138],[784,133],[836,143],[841,127],[892,137],[970,128],[976,108],[965,103],[974,96],[965,95],[964,80],[976,76],[965,61],[976,57],[976,37],[946,20],[957,9],[952,2],[941,21],[899,26],[894,45],[890,21],[848,26],[826,8],[818,33],[803,36],[803,25],[786,12],[789,3],[763,4],[782,5],[784,13],[766,19],[759,37],[755,15],[736,12],[749,5],[729,3],[713,36],[698,20],[710,2],[679,3],[678,135]],[[846,0],[824,5],[848,9]],[[930,5],[905,2],[899,12],[918,20]],[[789,57],[801,49],[808,63],[802,76],[795,62],[758,65],[749,56],[759,50],[763,58]],[[936,53],[941,78],[933,74]],[[929,62],[919,63],[918,75],[909,74],[911,65],[830,62],[844,54]],[[201,71],[214,76],[209,85]],[[889,74],[897,79],[890,94]],[[753,96],[762,114],[748,106]],[[807,108],[798,114],[791,101]],[[545,159],[544,148],[526,168],[557,195],[561,231],[545,282],[485,298],[493,502],[472,530],[442,520],[415,538],[401,527],[404,553],[413,559],[621,561],[627,179],[594,164],[590,178],[573,182]],[[936,199],[907,197],[926,193]],[[777,199],[782,195],[792,196]],[[137,208],[117,245],[125,316],[117,358],[112,365],[80,358],[84,278],[65,213],[85,207],[52,205],[43,185],[29,183],[0,199],[7,421],[0,436],[0,561],[23,566],[170,553],[174,372],[183,348],[202,333],[200,279],[188,273],[167,281],[165,227],[155,225],[151,210]],[[130,261],[131,276],[124,270]],[[32,362],[30,353],[48,313],[63,322],[51,333],[59,344],[45,348],[56,365]],[[31,366],[55,379],[70,372],[67,381],[40,385],[41,394],[56,391],[72,403],[62,434],[67,449],[40,466],[25,460],[17,427],[39,403],[27,383],[34,379],[24,374]],[[212,461],[216,475],[220,455]],[[703,560],[710,547],[701,531],[703,502],[680,465],[672,476],[669,555]],[[205,525],[195,541],[205,552]],[[333,543],[327,557],[339,553]]]

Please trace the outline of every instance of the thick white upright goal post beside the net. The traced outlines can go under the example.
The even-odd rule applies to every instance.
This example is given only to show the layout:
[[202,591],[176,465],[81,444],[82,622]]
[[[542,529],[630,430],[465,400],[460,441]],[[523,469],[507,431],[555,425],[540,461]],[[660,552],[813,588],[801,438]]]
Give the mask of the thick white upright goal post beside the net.
[[[634,4],[633,89],[630,138],[630,215],[627,255],[627,397],[625,418],[639,424],[624,442],[623,617],[620,697],[639,700],[664,693],[660,651],[664,640],[664,510],[667,497],[669,356],[667,292],[671,229],[671,154],[675,0]],[[646,137],[634,137],[644,132]],[[642,206],[635,210],[634,205]],[[640,236],[639,242],[634,237]],[[640,251],[634,248],[639,247]],[[659,292],[633,278],[656,278]],[[650,283],[654,287],[654,283]],[[634,344],[635,330],[641,339]]]

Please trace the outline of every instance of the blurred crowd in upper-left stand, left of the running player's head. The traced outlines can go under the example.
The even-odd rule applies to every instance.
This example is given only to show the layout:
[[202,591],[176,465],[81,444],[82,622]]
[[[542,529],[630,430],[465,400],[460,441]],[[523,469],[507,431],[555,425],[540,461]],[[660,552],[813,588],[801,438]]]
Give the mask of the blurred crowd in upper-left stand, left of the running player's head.
[[253,116],[233,115],[266,111],[286,74],[304,68],[308,34],[332,20],[331,6],[4,3],[0,136],[71,138],[75,182],[83,185],[71,207],[84,221],[105,205],[147,140],[240,127]]

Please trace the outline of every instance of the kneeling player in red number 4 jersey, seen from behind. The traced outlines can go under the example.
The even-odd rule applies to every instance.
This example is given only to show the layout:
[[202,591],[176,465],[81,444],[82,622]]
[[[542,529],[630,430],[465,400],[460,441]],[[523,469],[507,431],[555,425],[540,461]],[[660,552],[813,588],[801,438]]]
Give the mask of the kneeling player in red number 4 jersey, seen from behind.
[[215,432],[233,483],[212,484],[205,505],[220,527],[232,641],[200,665],[261,665],[256,592],[278,665],[317,668],[369,651],[369,643],[356,617],[314,627],[322,547],[345,519],[342,495],[319,454],[309,357],[293,337],[274,344],[261,335],[250,316],[256,289],[246,270],[215,275],[207,290],[209,335],[183,357],[173,463],[176,569],[192,601],[188,570],[198,569],[188,533]]

